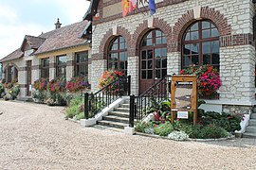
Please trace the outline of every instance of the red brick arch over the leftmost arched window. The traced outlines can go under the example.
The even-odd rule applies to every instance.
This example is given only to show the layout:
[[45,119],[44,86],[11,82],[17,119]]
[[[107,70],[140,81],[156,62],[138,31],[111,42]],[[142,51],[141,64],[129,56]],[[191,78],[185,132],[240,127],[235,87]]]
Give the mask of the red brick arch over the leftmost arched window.
[[[128,32],[128,30],[125,29],[124,27],[118,26],[117,27],[117,35],[120,35],[125,39],[125,42],[127,44],[127,50],[128,50],[131,46],[131,36],[130,36],[130,33]],[[117,35],[113,35],[113,29],[110,28],[105,33],[105,35],[103,36],[103,39],[102,39],[101,44],[100,44],[100,54],[103,55],[103,59],[106,59],[107,49],[108,49],[109,43],[115,37],[117,37]],[[129,51],[130,50],[128,50],[128,56],[129,56]]]

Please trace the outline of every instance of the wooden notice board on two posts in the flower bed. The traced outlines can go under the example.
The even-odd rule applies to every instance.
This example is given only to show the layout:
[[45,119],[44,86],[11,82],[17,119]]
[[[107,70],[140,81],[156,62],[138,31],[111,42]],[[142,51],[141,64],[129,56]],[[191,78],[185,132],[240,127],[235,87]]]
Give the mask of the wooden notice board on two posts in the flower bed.
[[[171,111],[172,123],[176,114],[193,113],[193,125],[197,123],[197,81],[196,76],[172,76],[171,84]],[[186,116],[185,116],[186,117]]]

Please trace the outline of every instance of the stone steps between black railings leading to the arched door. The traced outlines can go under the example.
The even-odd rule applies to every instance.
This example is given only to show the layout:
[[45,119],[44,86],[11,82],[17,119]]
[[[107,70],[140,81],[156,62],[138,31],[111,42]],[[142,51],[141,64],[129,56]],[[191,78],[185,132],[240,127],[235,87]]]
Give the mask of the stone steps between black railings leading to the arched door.
[[101,121],[97,124],[104,127],[116,127],[124,129],[129,126],[129,107],[130,101],[125,100],[123,104],[120,104],[118,108],[113,111],[109,111],[108,115],[103,116]]

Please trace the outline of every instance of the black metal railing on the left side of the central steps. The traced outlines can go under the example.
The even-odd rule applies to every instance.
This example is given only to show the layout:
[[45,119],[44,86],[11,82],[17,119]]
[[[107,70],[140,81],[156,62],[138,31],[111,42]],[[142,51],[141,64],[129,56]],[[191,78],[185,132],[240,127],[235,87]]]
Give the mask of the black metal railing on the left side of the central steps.
[[120,96],[130,95],[131,76],[119,77],[103,87],[97,93],[84,93],[84,118],[94,117],[103,108],[109,106]]

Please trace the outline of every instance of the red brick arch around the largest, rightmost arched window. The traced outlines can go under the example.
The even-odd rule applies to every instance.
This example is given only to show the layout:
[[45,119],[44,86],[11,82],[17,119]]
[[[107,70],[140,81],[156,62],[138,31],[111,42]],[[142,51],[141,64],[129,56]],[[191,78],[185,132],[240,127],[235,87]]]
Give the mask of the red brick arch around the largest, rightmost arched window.
[[[214,8],[201,8],[200,17],[202,19],[210,20],[218,29],[220,36],[227,36],[231,34],[231,26],[228,24],[227,18],[220,11]],[[172,34],[172,51],[180,51],[180,42],[188,26],[192,25],[196,20],[193,16],[193,10],[188,10],[182,17],[174,24]]]

